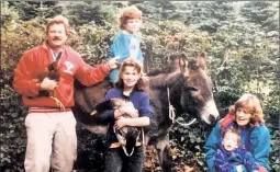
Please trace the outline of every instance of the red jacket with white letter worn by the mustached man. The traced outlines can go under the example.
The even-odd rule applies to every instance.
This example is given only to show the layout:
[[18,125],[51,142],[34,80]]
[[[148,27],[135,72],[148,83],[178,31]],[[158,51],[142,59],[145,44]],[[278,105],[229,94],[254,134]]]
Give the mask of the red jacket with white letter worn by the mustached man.
[[[13,87],[22,95],[23,103],[29,107],[59,107],[57,102],[49,96],[37,96],[38,89],[33,79],[38,71],[43,71],[53,62],[53,55],[46,44],[24,53],[14,71]],[[59,81],[54,91],[55,96],[64,107],[74,106],[74,81],[77,79],[85,85],[101,82],[109,73],[108,64],[96,68],[87,65],[81,56],[68,46],[65,46],[58,61]]]

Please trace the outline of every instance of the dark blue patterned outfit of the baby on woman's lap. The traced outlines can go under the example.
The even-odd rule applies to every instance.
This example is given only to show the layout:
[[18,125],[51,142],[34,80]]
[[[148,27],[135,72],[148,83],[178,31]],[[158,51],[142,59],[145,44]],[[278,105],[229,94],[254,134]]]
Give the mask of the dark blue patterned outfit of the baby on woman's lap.
[[220,149],[217,149],[214,156],[214,164],[219,172],[235,172],[235,167],[239,164],[243,164],[249,172],[258,171],[259,167],[245,147],[238,147],[234,151],[227,151],[222,144],[220,144]]

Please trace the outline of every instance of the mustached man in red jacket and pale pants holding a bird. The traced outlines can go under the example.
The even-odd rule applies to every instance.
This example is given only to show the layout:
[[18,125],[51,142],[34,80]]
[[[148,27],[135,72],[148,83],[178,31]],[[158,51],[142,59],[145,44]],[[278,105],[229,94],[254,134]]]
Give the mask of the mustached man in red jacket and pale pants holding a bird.
[[[26,172],[70,172],[77,157],[76,119],[74,106],[74,80],[85,85],[102,81],[115,59],[96,68],[88,66],[70,47],[66,46],[69,33],[68,20],[56,16],[47,23],[46,42],[25,51],[14,72],[13,87],[29,106],[25,118],[27,146],[24,167]],[[57,61],[59,80],[34,79],[49,64]],[[41,96],[41,91],[51,91],[53,96]],[[52,158],[52,160],[51,160]]]

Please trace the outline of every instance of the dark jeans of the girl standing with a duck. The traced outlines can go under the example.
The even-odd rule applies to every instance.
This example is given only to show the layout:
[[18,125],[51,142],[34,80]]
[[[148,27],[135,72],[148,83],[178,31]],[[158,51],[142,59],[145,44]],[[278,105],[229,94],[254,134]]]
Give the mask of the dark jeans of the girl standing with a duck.
[[109,148],[105,152],[105,172],[142,172],[144,163],[143,147],[135,147],[131,157],[123,148]]

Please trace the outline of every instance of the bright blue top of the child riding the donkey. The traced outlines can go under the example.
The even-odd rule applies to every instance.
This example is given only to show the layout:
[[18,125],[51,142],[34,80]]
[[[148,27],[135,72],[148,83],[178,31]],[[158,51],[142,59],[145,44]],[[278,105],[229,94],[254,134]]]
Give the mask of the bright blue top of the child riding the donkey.
[[[122,64],[126,58],[133,57],[143,64],[143,56],[141,50],[141,39],[134,34],[126,34],[120,31],[111,45],[109,53],[109,60],[113,57],[119,57],[117,61]],[[110,72],[109,78],[111,82],[115,82],[119,76],[119,69]]]

